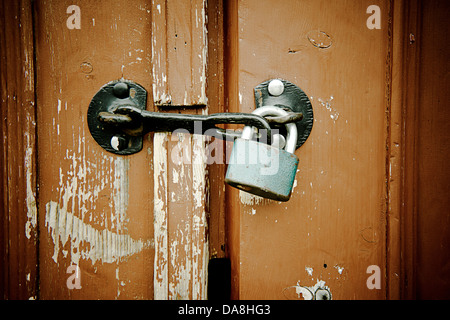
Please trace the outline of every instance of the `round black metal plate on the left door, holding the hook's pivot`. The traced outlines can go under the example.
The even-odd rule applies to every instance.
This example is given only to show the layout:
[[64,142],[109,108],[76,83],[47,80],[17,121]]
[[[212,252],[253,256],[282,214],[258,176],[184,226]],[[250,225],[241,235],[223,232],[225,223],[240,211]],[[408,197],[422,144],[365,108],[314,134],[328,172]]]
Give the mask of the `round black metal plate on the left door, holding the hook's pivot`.
[[[118,83],[126,84],[126,86],[122,86],[120,91],[114,90],[114,86]],[[88,126],[92,137],[103,149],[114,154],[130,155],[142,150],[142,136],[129,136],[118,127],[98,120],[100,112],[111,112],[118,105],[126,104],[145,110],[147,91],[132,81],[117,80],[104,85],[92,98],[88,108]],[[126,141],[126,146],[123,149],[116,150],[111,146],[111,139],[114,136],[123,138]]]

